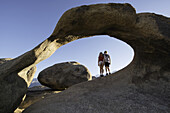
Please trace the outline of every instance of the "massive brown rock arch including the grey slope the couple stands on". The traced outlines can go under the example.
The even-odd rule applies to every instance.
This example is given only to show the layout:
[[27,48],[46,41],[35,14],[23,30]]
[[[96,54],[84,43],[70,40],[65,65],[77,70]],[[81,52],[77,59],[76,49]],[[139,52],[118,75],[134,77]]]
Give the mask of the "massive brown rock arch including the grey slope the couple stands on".
[[[0,65],[0,101],[4,88],[15,82],[21,89],[25,81],[18,76],[23,69],[48,58],[60,46],[76,39],[109,35],[128,43],[135,52],[133,61],[121,71],[104,78],[74,85],[28,107],[24,113],[109,113],[170,112],[170,19],[153,13],[136,14],[130,4],[97,4],[66,11],[53,34],[33,50]],[[26,83],[25,83],[26,84]],[[23,97],[25,90],[13,92]],[[13,102],[12,96],[8,101]],[[13,103],[16,103],[13,102]],[[9,103],[0,105],[9,111]],[[12,104],[13,108],[17,104]]]

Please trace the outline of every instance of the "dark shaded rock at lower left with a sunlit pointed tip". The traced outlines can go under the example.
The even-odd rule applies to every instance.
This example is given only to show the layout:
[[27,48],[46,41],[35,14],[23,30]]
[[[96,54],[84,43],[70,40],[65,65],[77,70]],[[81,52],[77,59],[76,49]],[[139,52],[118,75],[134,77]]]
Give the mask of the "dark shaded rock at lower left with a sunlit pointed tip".
[[19,106],[36,71],[35,66],[21,71],[15,67],[6,70],[11,63],[16,63],[15,59],[0,59],[0,113],[11,113]]

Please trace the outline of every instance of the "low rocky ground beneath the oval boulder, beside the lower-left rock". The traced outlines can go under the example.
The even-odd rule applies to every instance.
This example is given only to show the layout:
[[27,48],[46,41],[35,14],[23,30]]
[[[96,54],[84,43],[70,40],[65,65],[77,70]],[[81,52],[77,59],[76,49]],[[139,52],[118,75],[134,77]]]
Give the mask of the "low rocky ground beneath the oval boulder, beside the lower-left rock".
[[18,109],[14,113],[21,113],[25,108],[34,104],[35,102],[42,100],[47,97],[47,95],[52,95],[59,93],[60,91],[55,91],[45,86],[35,86],[29,88],[26,94],[25,100],[21,103]]

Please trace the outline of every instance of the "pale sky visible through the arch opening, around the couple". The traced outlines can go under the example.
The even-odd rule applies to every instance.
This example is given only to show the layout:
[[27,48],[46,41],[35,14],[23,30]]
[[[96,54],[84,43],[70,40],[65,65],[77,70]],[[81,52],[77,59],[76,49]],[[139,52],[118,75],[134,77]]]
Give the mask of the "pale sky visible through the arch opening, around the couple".
[[111,73],[125,68],[134,57],[134,51],[127,43],[108,35],[96,35],[75,40],[57,49],[50,58],[37,64],[35,77],[51,65],[69,61],[79,62],[88,68],[92,76],[99,77],[98,55],[105,50],[111,56]]

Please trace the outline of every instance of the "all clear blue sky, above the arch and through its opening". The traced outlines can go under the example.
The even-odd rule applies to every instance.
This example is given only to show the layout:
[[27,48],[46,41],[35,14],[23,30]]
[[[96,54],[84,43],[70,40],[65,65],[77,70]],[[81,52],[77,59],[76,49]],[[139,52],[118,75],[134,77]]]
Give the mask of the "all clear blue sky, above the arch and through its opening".
[[[137,13],[151,12],[170,17],[170,0],[0,0],[0,58],[15,58],[37,46],[53,32],[68,9],[96,3],[130,3]],[[56,63],[77,61],[97,75],[99,52],[107,50],[111,70],[120,70],[133,59],[133,49],[109,36],[80,39],[59,48],[37,65],[38,73]]]

